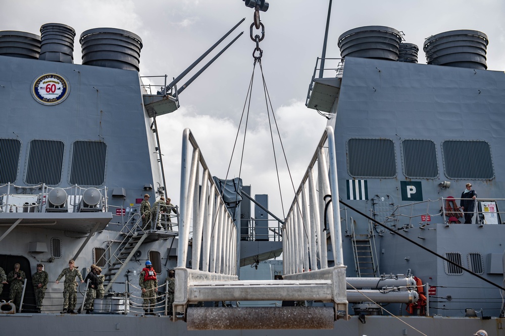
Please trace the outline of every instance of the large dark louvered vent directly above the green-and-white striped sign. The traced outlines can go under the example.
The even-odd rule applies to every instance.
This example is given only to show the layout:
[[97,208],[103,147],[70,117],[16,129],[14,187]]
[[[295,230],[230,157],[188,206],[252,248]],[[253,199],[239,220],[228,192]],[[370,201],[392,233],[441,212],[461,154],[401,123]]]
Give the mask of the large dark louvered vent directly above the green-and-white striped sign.
[[349,139],[347,153],[349,175],[353,177],[396,176],[394,143],[389,139]]

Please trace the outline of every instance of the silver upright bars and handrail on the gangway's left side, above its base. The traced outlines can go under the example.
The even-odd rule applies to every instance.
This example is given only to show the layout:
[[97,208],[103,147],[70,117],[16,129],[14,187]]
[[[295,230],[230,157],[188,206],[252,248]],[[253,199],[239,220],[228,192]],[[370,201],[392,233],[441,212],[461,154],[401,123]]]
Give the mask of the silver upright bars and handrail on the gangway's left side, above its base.
[[[198,193],[200,166],[203,176]],[[198,268],[201,251],[204,272],[237,274],[237,229],[189,128],[184,129],[182,141],[180,221],[177,267],[186,267],[192,224],[192,265]]]

